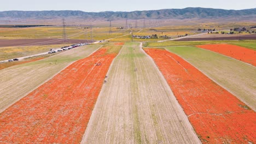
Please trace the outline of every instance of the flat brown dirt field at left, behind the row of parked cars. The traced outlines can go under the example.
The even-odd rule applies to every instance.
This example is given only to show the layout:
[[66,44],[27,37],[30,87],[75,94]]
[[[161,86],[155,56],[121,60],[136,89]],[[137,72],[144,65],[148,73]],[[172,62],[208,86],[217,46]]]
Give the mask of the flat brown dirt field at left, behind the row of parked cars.
[[0,39],[0,46],[26,46],[26,45],[55,45],[55,44],[77,44],[92,43],[93,40],[82,39]]

